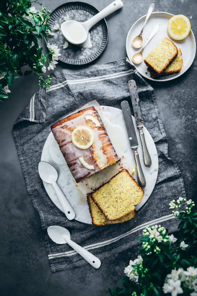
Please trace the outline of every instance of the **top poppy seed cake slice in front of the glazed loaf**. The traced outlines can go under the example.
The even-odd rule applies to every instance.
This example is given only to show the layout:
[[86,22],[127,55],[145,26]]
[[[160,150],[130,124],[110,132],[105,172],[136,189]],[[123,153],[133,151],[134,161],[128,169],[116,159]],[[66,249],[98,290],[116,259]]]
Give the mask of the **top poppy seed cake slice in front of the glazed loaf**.
[[135,210],[144,196],[144,190],[137,184],[128,170],[123,169],[103,184],[91,198],[108,221],[115,221]]

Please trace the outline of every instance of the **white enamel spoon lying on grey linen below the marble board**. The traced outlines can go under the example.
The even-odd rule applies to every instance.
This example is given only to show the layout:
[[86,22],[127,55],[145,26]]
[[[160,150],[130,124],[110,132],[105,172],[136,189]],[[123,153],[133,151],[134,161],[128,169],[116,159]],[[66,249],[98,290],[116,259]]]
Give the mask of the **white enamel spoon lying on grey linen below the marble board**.
[[76,244],[71,240],[71,235],[68,229],[61,226],[49,226],[47,229],[49,237],[56,244],[69,244],[77,253],[79,253],[89,264],[95,268],[101,265],[100,259],[86,249]]

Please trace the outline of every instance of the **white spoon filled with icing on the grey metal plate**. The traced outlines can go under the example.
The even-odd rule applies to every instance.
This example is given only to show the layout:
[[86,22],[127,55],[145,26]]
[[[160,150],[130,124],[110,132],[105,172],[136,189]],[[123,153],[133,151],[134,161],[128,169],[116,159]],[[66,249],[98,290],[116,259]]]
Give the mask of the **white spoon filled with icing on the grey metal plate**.
[[88,32],[92,26],[121,7],[123,7],[123,2],[121,0],[115,0],[86,22],[77,22],[75,20],[63,22],[61,24],[61,32],[70,43],[82,44],[86,41]]

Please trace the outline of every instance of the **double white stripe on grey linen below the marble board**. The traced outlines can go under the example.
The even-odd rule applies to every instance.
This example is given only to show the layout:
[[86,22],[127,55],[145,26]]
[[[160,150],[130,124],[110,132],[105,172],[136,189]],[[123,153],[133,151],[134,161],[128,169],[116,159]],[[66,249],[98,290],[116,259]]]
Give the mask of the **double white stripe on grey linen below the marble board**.
[[[100,247],[104,247],[108,244],[111,244],[113,242],[116,242],[118,241],[119,239],[123,238],[123,237],[126,237],[138,230],[141,230],[143,228],[145,228],[146,226],[151,226],[155,223],[160,223],[160,222],[164,222],[164,221],[167,221],[167,220],[170,220],[170,219],[173,219],[175,218],[175,216],[173,214],[170,214],[170,215],[167,215],[167,216],[164,216],[164,217],[161,217],[161,218],[157,218],[157,219],[154,219],[152,221],[149,221],[149,222],[146,222],[146,223],[143,223],[133,229],[131,229],[130,231],[124,233],[124,234],[121,234],[119,235],[118,237],[115,237],[113,239],[109,239],[105,242],[100,242],[100,243],[96,243],[96,244],[91,244],[91,245],[88,245],[88,246],[85,246],[84,249],[86,250],[92,250],[92,249],[96,249],[96,248],[100,248]],[[59,257],[65,257],[65,256],[71,256],[71,255],[75,255],[77,254],[76,251],[72,250],[72,251],[68,251],[68,252],[62,252],[62,253],[57,253],[57,254],[50,254],[48,255],[48,259],[53,259],[53,258],[59,258]]]

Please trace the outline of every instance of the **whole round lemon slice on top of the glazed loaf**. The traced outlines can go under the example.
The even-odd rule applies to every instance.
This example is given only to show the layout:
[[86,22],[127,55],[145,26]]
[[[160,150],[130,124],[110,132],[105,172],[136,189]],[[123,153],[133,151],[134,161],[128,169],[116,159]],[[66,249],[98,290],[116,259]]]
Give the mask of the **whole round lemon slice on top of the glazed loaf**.
[[94,143],[94,133],[87,126],[78,126],[71,134],[73,144],[81,149],[87,149]]

